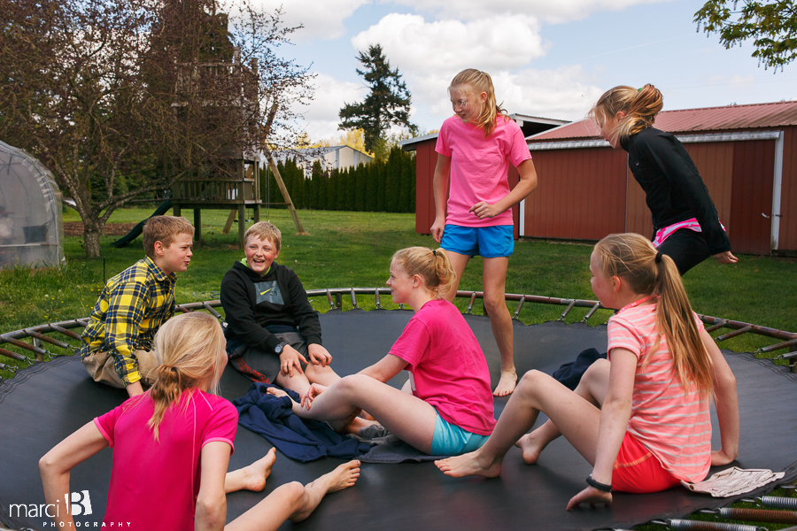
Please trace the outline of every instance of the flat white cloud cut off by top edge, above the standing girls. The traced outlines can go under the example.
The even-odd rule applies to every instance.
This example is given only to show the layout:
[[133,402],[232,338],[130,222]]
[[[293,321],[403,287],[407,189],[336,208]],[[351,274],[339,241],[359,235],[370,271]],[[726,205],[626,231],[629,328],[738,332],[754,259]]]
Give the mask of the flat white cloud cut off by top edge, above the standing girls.
[[419,12],[433,12],[440,18],[477,20],[491,17],[495,13],[511,13],[510,16],[525,15],[561,23],[585,19],[593,12],[621,11],[638,4],[654,4],[670,0],[394,0]]

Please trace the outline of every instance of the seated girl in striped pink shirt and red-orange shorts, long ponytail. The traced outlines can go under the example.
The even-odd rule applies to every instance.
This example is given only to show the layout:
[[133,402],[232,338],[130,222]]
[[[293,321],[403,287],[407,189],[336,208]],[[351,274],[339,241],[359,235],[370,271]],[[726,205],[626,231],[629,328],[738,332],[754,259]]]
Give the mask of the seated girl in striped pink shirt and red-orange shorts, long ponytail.
[[[617,312],[608,322],[608,356],[575,391],[538,371],[526,373],[484,446],[437,461],[447,475],[496,477],[513,444],[536,463],[560,435],[592,467],[570,499],[610,504],[612,489],[655,492],[702,481],[709,466],[739,450],[736,380],[692,311],[672,258],[641,235],[609,235],[590,258],[592,291]],[[708,397],[714,396],[722,448],[711,451]],[[529,435],[544,412],[550,420]]]

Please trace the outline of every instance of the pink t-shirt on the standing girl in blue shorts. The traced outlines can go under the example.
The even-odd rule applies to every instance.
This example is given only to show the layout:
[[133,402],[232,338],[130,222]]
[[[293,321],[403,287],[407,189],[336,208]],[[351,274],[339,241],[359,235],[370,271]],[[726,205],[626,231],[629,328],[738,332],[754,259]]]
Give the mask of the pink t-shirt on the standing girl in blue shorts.
[[463,227],[513,225],[512,209],[494,218],[478,219],[468,212],[480,201],[498,203],[509,193],[509,163],[519,165],[531,158],[520,126],[513,119],[496,119],[495,130],[484,131],[452,116],[437,135],[437,153],[451,157],[451,189],[445,223]]

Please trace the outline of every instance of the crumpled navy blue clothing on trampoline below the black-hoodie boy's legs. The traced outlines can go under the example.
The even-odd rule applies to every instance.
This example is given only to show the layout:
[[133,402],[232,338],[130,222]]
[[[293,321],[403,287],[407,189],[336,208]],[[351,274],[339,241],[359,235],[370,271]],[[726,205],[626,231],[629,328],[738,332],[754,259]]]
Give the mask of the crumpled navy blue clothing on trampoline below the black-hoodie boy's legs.
[[[329,425],[316,420],[300,419],[293,413],[291,398],[268,395],[271,383],[254,382],[246,396],[233,401],[238,410],[238,423],[266,437],[269,443],[291,459],[301,463],[329,456],[330,458],[356,458],[370,449],[351,437],[337,434]],[[299,396],[284,389],[294,400]]]

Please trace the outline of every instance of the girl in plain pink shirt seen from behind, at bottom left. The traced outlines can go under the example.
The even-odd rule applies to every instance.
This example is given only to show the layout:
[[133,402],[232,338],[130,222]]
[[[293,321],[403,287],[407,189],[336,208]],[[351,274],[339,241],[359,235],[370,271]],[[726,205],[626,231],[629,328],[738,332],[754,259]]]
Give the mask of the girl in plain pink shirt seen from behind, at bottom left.
[[238,413],[221,396],[227,364],[219,322],[207,313],[186,313],[166,321],[155,336],[163,359],[151,389],[97,417],[58,443],[40,461],[44,496],[58,527],[74,527],[66,506],[70,470],[107,447],[113,448],[111,486],[104,525],[130,529],[276,529],[285,519],[306,519],[329,492],[357,481],[360,463],[351,461],[316,481],[275,489],[225,527],[226,493],[260,491],[275,462],[266,457],[227,473]]

